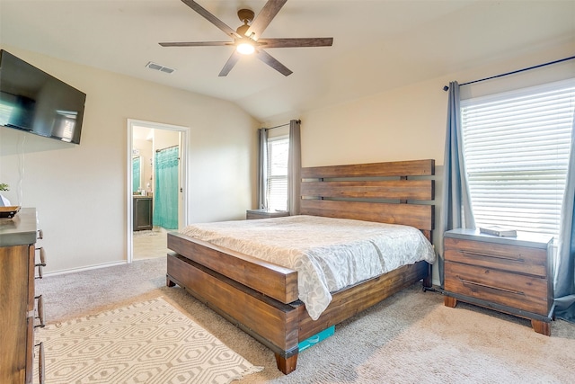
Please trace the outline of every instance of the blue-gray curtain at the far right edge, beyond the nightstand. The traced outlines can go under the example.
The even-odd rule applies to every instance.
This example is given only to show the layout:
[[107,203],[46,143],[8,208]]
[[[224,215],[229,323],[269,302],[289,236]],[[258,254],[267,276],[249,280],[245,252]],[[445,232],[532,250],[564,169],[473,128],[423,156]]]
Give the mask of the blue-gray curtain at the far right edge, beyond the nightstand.
[[553,276],[555,316],[575,323],[575,112],[563,194],[559,246]]

